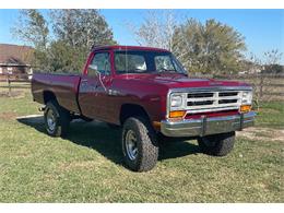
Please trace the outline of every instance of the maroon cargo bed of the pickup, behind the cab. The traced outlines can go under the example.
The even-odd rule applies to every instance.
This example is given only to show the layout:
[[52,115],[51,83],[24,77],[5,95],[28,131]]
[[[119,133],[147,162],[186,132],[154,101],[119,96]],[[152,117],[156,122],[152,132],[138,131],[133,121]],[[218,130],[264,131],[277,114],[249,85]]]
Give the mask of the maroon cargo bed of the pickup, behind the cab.
[[46,104],[49,95],[55,95],[60,106],[81,114],[78,103],[80,74],[34,73],[32,93],[35,102]]

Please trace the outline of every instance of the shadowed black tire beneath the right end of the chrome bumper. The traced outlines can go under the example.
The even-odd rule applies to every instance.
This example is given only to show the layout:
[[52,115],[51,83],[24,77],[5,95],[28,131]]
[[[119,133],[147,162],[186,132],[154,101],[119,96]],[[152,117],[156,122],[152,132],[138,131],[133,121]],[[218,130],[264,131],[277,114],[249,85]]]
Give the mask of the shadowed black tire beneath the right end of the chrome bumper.
[[233,149],[235,143],[235,132],[208,135],[198,139],[201,151],[209,155],[225,156]]

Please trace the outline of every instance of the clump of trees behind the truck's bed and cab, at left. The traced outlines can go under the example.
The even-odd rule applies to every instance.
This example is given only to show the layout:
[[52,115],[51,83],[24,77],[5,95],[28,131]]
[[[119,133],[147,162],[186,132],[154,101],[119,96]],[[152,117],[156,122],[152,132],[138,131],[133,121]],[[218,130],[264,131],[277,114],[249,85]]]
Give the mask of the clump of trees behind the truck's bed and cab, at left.
[[116,44],[97,10],[52,10],[49,15],[47,22],[37,10],[22,10],[12,28],[16,37],[35,48],[37,69],[80,72],[93,45]]

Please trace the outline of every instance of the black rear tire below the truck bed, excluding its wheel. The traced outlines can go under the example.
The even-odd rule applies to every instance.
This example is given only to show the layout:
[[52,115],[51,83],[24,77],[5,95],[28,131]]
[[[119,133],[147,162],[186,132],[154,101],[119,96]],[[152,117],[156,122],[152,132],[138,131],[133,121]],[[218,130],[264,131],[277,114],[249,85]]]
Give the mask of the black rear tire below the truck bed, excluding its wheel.
[[[51,110],[56,116],[54,129],[50,129],[47,122],[47,115],[49,110]],[[56,100],[50,100],[46,104],[44,117],[46,131],[49,135],[64,137],[67,134],[71,121],[70,113],[67,109],[59,106],[59,104]]]

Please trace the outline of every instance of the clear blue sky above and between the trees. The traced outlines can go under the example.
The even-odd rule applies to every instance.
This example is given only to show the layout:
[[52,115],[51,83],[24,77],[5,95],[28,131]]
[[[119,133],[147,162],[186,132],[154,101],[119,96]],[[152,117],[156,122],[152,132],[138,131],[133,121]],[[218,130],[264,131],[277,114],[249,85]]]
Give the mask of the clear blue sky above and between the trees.
[[[42,11],[47,16],[47,11]],[[247,54],[253,52],[261,58],[264,51],[279,49],[284,52],[284,10],[174,10],[181,17],[196,17],[201,22],[215,19],[226,23],[246,38]],[[100,10],[114,31],[115,39],[122,45],[137,45],[126,23],[140,25],[146,10]],[[17,17],[17,10],[0,10],[0,43],[22,44],[12,38],[10,28]],[[284,56],[282,57],[284,64]]]

